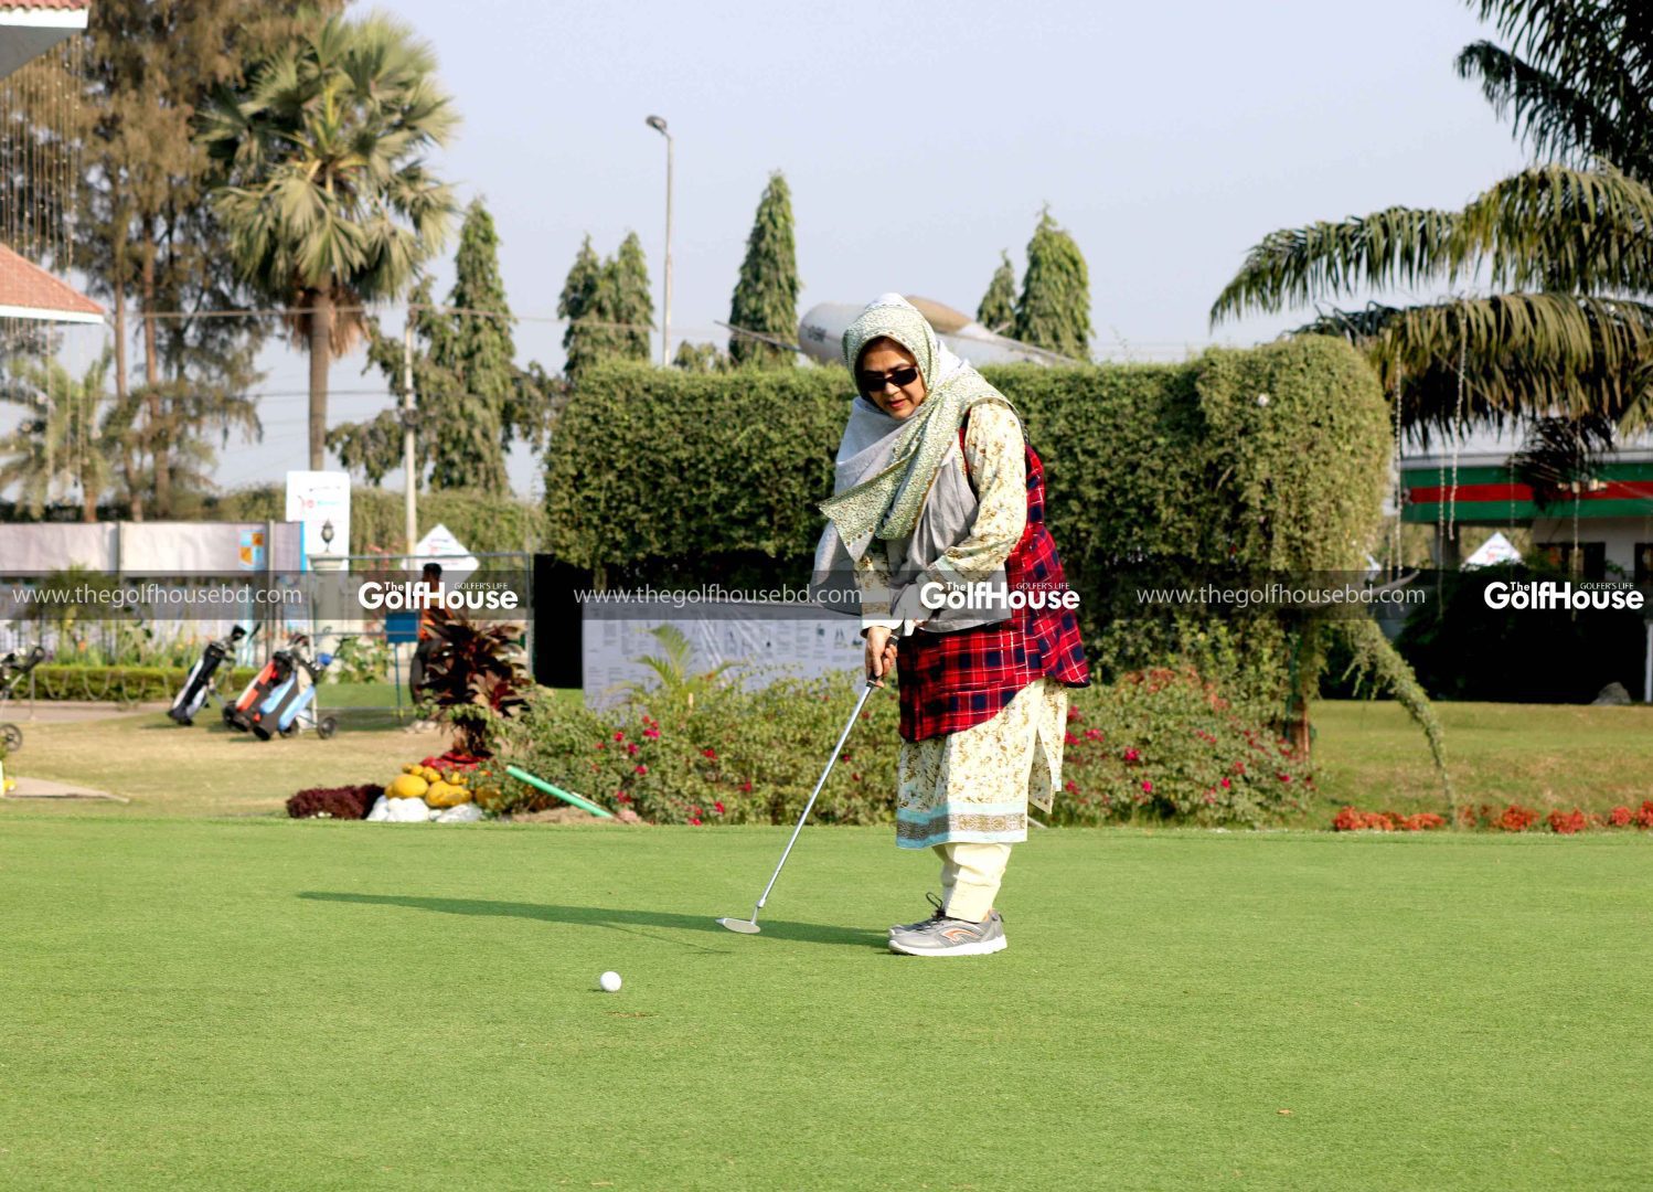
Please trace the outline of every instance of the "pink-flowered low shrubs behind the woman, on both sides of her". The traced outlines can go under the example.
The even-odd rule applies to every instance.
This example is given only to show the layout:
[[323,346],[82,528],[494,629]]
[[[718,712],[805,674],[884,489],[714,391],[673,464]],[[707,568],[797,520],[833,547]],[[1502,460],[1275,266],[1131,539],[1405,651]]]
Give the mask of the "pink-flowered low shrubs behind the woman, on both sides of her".
[[[610,713],[536,689],[526,714],[496,719],[501,765],[653,823],[792,823],[843,731],[860,679],[780,679],[703,693],[693,708],[655,691]],[[1299,808],[1312,784],[1266,727],[1192,670],[1132,673],[1071,693],[1061,823],[1155,820],[1258,827]],[[820,823],[894,818],[894,689],[874,693],[815,805]],[[1144,787],[1142,784],[1149,784]],[[554,800],[511,782],[501,810]],[[719,807],[722,810],[719,810]]]

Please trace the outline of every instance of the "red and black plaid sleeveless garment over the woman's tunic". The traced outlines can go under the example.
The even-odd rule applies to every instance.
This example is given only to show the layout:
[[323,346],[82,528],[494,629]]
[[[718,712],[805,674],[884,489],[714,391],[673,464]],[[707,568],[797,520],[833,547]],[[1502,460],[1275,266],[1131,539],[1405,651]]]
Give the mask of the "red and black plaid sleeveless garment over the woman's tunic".
[[[959,445],[962,450],[962,428]],[[1056,542],[1045,527],[1045,465],[1031,445],[1027,461],[1028,522],[1005,562],[1005,579],[1025,592],[1066,592]],[[990,721],[1017,691],[1046,675],[1071,688],[1091,683],[1073,610],[1028,605],[998,625],[899,638],[896,670],[906,741]]]

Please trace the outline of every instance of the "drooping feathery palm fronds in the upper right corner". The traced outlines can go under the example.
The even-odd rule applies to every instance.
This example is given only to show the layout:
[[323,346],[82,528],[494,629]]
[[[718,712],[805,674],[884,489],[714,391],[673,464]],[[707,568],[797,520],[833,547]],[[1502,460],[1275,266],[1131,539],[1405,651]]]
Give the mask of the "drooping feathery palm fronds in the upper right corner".
[[[1355,291],[1440,286],[1430,303],[1319,309],[1303,332],[1362,347],[1430,432],[1603,415],[1653,420],[1653,25],[1623,0],[1471,0],[1512,38],[1458,58],[1516,136],[1552,164],[1463,210],[1389,207],[1274,231],[1250,250],[1212,324]],[[1484,291],[1471,288],[1484,281]]]

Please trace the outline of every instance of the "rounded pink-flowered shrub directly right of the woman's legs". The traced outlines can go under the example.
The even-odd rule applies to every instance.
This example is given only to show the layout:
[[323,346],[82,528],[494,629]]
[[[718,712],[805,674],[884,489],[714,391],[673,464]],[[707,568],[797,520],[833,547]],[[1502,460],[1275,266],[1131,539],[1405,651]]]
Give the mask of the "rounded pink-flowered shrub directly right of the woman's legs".
[[1061,823],[1179,822],[1261,827],[1301,810],[1308,759],[1193,670],[1134,671],[1074,693]]

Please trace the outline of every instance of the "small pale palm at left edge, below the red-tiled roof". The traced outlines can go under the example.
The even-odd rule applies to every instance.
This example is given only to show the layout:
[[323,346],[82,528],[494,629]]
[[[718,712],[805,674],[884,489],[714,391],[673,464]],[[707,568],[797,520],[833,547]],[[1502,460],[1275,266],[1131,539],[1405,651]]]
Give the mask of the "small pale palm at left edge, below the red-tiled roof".
[[55,496],[78,489],[81,519],[98,521],[98,498],[109,488],[109,440],[101,422],[111,350],[78,380],[58,360],[10,367],[0,400],[33,417],[0,438],[0,488],[18,486],[18,503],[38,517]]

